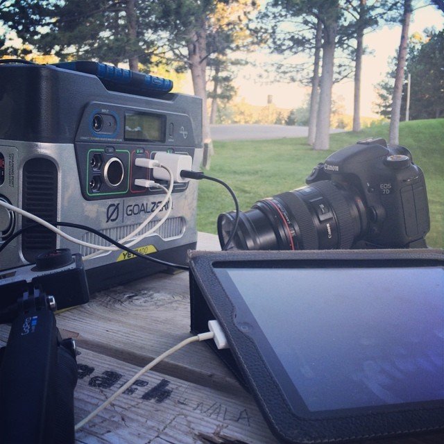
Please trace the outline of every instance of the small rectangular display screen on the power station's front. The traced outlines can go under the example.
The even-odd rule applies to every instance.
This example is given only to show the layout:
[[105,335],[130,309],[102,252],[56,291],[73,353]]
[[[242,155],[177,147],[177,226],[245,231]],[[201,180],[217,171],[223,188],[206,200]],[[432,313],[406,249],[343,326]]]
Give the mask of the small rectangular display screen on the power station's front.
[[164,142],[165,120],[162,114],[128,112],[125,114],[125,140]]

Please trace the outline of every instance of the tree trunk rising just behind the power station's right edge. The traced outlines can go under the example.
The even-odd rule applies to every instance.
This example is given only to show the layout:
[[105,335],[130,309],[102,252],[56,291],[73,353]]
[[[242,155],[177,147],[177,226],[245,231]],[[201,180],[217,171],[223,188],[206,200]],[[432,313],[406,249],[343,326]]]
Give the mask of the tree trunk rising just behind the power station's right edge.
[[213,153],[213,146],[210,134],[210,119],[208,118],[207,112],[207,82],[205,78],[207,45],[204,27],[199,31],[194,31],[187,46],[194,94],[202,99],[203,167],[210,168],[210,157]]

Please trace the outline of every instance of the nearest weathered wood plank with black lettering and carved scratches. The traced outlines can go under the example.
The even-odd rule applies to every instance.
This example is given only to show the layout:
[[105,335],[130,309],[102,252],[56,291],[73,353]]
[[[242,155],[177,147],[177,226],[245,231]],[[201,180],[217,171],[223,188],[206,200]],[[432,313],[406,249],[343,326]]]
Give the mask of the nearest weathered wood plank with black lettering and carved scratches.
[[[80,349],[80,352],[78,364],[84,376],[75,391],[76,422],[139,370],[89,350]],[[108,378],[103,377],[104,372],[110,372]],[[111,379],[112,387],[106,384]],[[80,429],[76,442],[277,443],[254,400],[240,386],[235,395],[228,395],[214,388],[166,378],[155,371],[146,373],[139,381],[133,393],[121,395]]]

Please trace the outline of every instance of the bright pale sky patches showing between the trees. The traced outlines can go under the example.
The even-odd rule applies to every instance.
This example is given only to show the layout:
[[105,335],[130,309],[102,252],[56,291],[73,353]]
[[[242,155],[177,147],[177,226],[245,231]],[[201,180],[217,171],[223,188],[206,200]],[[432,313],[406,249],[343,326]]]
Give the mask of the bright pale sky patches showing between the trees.
[[[409,35],[420,32],[430,26],[438,30],[444,27],[444,13],[435,6],[429,5],[413,12]],[[373,102],[376,101],[375,85],[384,78],[388,71],[388,60],[395,56],[400,44],[401,26],[384,26],[378,28],[364,37],[364,44],[373,54],[364,56],[361,80],[361,116],[376,117],[373,112]],[[255,58],[248,54],[248,60]],[[258,62],[260,58],[256,57]],[[266,105],[267,96],[273,96],[273,103],[278,108],[298,108],[305,101],[309,89],[295,84],[275,83],[274,85],[261,85],[259,83],[260,68],[248,67],[239,72],[234,84],[238,89],[238,99],[245,99],[252,105]],[[414,85],[412,85],[414,87]],[[345,80],[334,85],[333,96],[343,103],[345,112],[353,112],[353,81]]]

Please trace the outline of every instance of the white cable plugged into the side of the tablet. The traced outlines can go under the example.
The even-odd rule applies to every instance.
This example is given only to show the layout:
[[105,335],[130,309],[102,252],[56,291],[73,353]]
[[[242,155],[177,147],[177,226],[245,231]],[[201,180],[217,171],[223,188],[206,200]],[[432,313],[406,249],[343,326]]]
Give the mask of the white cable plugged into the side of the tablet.
[[225,337],[225,334],[223,333],[222,327],[219,324],[218,321],[213,320],[208,322],[208,327],[210,327],[210,332],[200,333],[196,336],[191,336],[191,338],[187,338],[184,341],[178,343],[177,345],[174,345],[174,347],[170,348],[166,352],[162,353],[159,357],[156,359],[153,359],[148,365],[146,365],[142,370],[139,370],[126,384],[123,384],[121,388],[119,388],[118,391],[116,391],[113,395],[108,398],[103,404],[99,405],[92,413],[89,413],[89,415],[78,422],[76,426],[74,427],[74,430],[77,431],[81,427],[83,427],[87,422],[92,420],[98,413],[100,413],[105,407],[108,407],[108,405],[111,404],[112,401],[114,401],[119,395],[121,395],[124,391],[126,391],[127,388],[130,388],[134,384],[134,382],[144,375],[148,370],[151,370],[156,364],[159,364],[160,361],[165,359],[166,357],[169,357],[169,355],[172,355],[174,352],[177,352],[181,348],[185,347],[185,345],[191,343],[191,342],[198,342],[198,341],[207,341],[208,339],[214,339],[214,342],[216,343],[217,348],[219,350],[221,348],[228,348],[228,342]]

